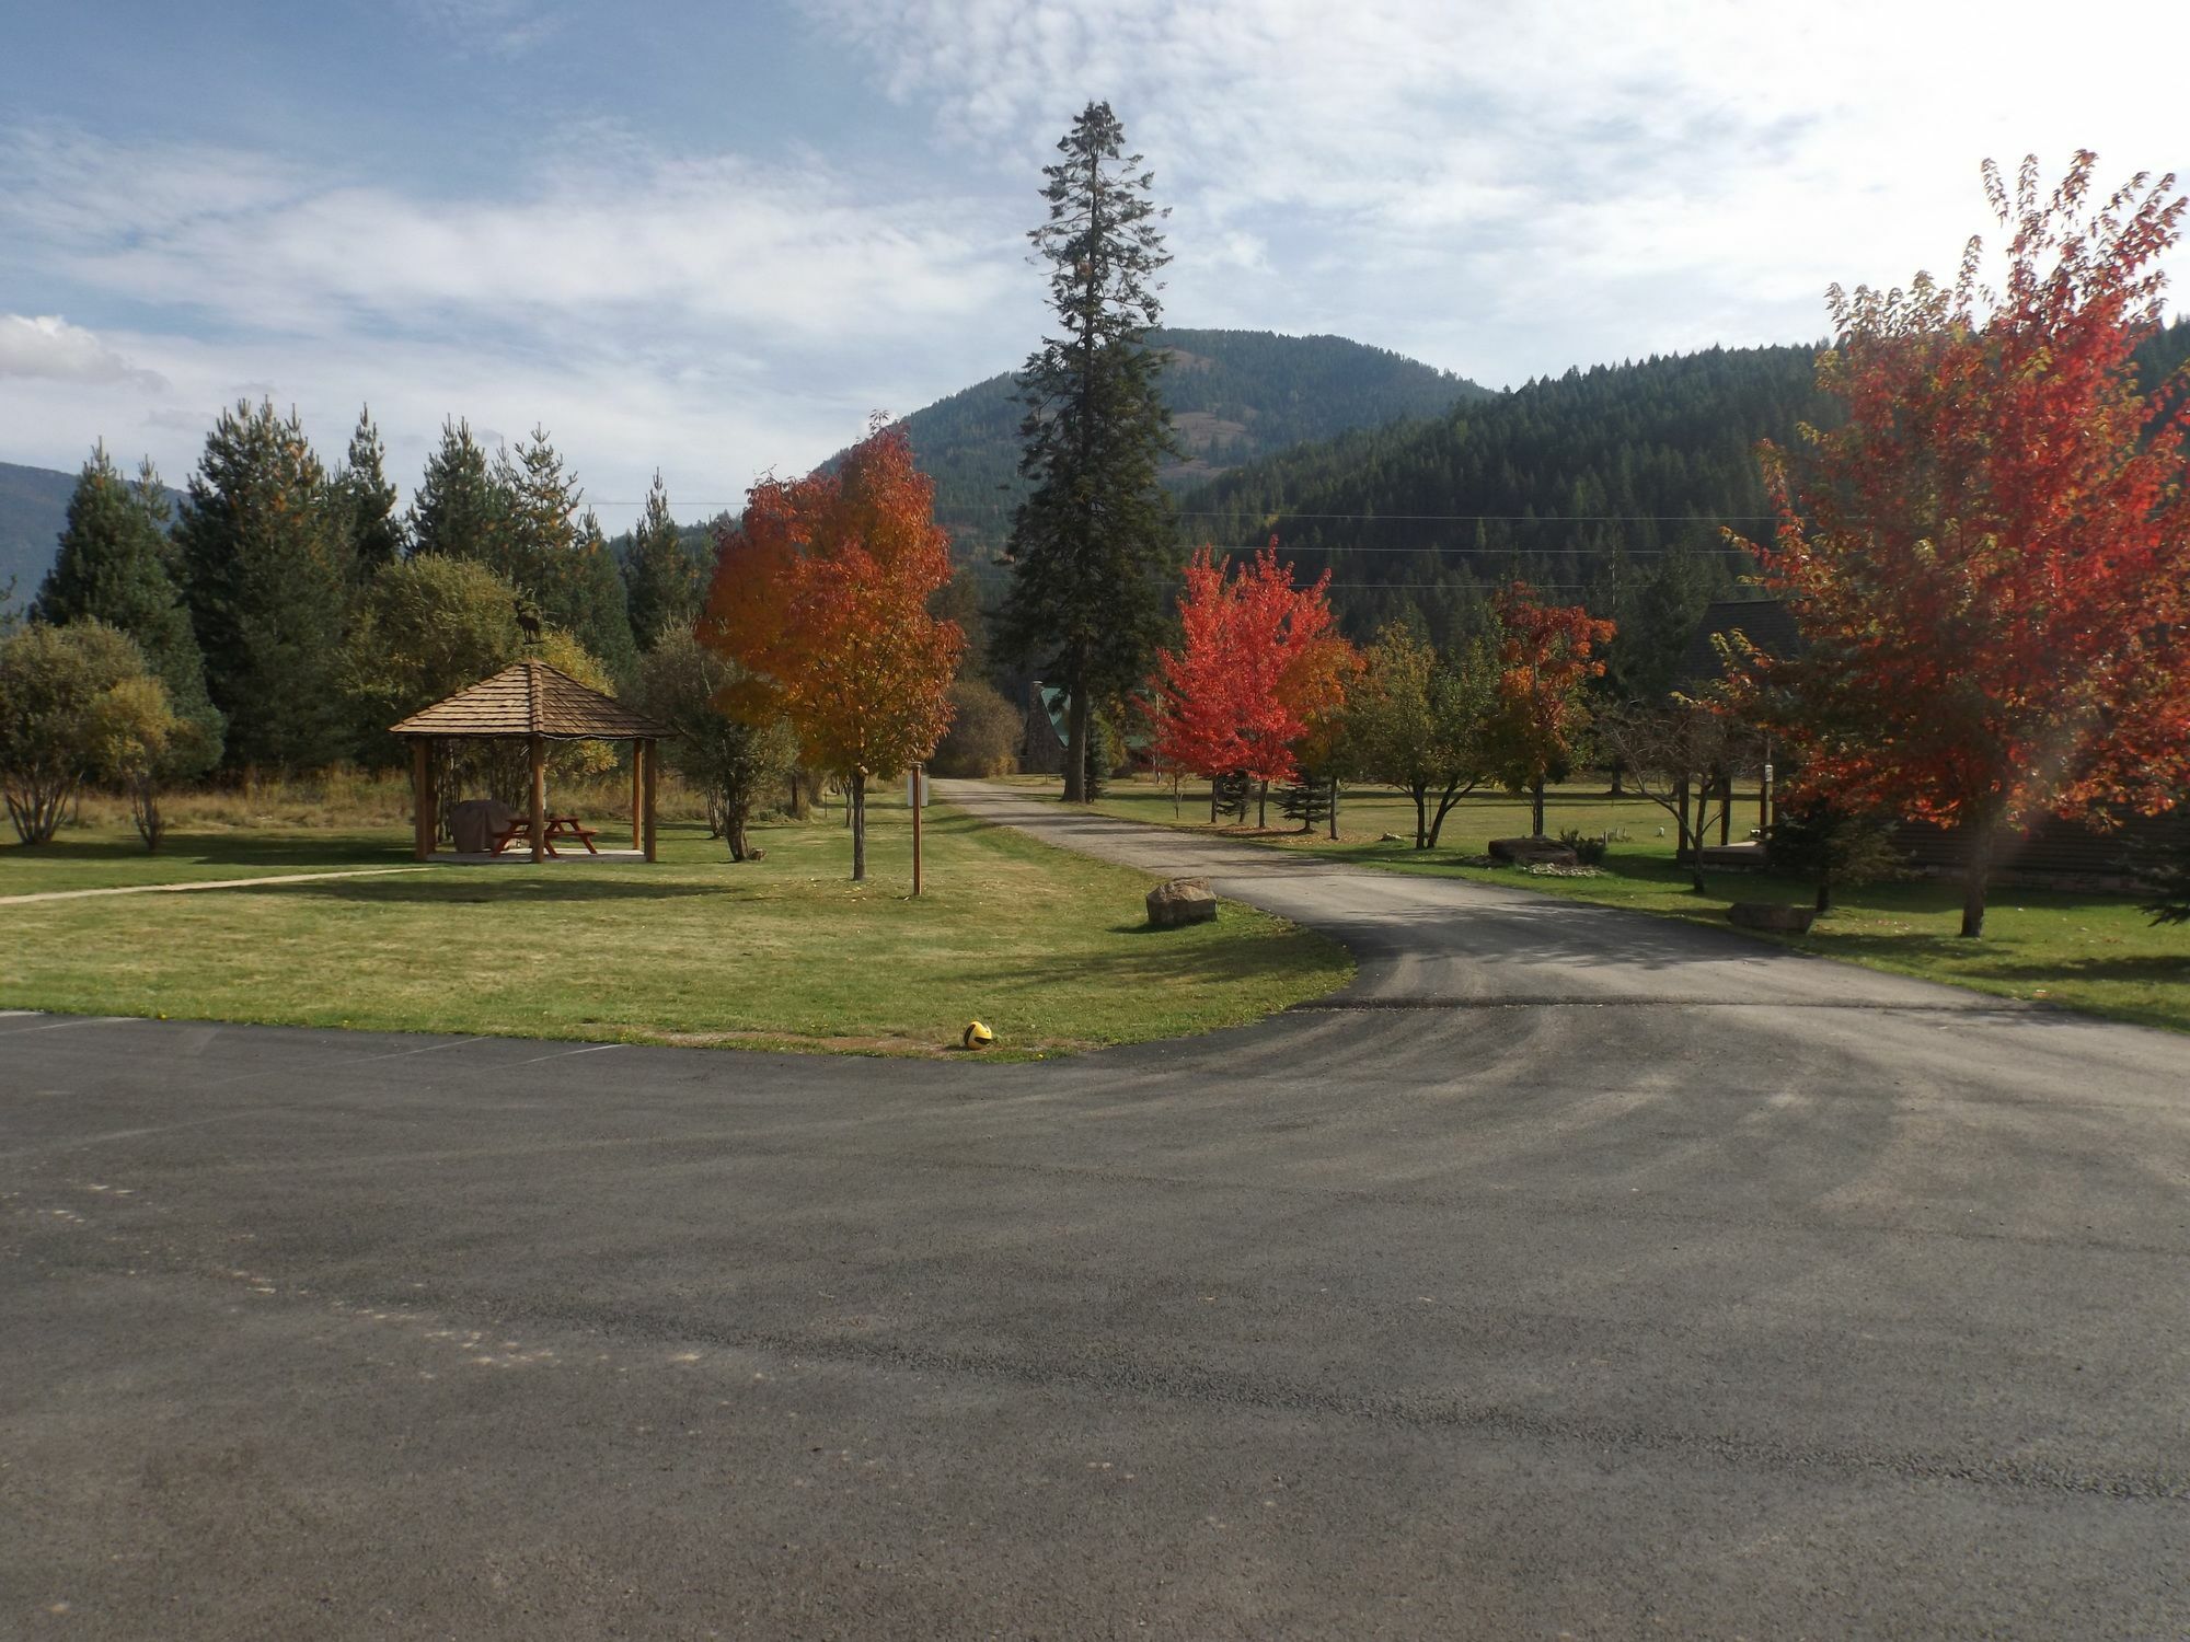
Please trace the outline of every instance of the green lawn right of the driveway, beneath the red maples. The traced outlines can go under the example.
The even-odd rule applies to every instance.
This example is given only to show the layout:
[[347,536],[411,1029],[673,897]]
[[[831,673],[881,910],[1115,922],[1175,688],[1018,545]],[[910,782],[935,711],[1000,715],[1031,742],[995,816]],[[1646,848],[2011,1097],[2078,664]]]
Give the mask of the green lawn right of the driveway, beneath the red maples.
[[[1029,788],[1053,790],[1056,779],[1021,777]],[[1196,801],[1196,797],[1200,801]],[[1169,788],[1119,782],[1099,799],[1110,814],[1161,825],[1209,832],[1207,788],[1187,788],[1176,810]],[[1548,895],[1632,906],[1664,917],[1686,917],[1728,928],[1726,906],[1734,900],[1785,900],[1809,904],[1807,882],[1772,874],[1706,874],[1706,893],[1688,889],[1688,874],[1673,865],[1671,817],[1647,799],[1607,799],[1601,788],[1564,788],[1548,795],[1546,832],[1577,828],[1588,834],[1625,832],[1605,856],[1597,878],[1537,878],[1509,867],[1472,867],[1461,856],[1478,856],[1491,839],[1529,832],[1529,806],[1502,793],[1469,795],[1445,819],[1439,847],[1417,852],[1415,808],[1388,788],[1349,790],[1340,799],[1340,841],[1316,836],[1250,836],[1286,849],[1356,860],[1391,871],[1426,871],[1480,882],[1518,884]],[[1277,801],[1270,808],[1272,825]],[[1734,841],[1756,823],[1756,795],[1734,803]],[[1384,841],[1382,834],[1399,834]],[[1717,839],[1717,832],[1710,834]],[[2006,998],[2043,998],[2146,1027],[2190,1031],[2190,928],[2155,928],[2131,895],[2100,895],[2043,889],[1995,887],[1984,937],[1964,941],[1960,887],[1940,880],[1888,882],[1835,893],[1835,911],[1807,937],[1787,939],[1809,952],[1864,963],[1875,970],[1914,974],[1927,981],[1973,987]]]

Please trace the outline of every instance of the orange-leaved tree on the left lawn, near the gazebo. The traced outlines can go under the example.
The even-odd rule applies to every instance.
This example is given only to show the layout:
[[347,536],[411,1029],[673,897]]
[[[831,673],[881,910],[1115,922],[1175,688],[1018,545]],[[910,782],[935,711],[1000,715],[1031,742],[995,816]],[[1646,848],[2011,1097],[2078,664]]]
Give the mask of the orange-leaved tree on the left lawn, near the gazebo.
[[950,580],[935,484],[880,427],[834,473],[762,479],[716,543],[699,637],[742,668],[725,709],[791,720],[806,760],[852,793],[852,878],[867,876],[867,779],[898,775],[950,727],[966,635],[929,613]]

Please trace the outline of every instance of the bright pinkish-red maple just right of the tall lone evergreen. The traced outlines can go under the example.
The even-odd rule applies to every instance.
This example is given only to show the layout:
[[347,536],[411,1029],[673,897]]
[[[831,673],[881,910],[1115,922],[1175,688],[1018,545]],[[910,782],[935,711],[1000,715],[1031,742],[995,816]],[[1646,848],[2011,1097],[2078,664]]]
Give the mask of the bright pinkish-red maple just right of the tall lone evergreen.
[[1211,779],[1286,782],[1360,670],[1332,631],[1329,571],[1294,587],[1272,539],[1246,565],[1202,547],[1178,598],[1178,650],[1156,652],[1156,758]]

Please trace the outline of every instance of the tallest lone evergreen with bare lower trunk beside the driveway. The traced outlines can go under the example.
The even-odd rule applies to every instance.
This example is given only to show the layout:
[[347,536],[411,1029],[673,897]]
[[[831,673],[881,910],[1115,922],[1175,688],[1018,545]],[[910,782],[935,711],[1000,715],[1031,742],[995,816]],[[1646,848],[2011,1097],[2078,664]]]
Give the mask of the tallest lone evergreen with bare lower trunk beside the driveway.
[[1141,155],[1123,149],[1110,105],[1088,103],[1058,164],[1042,166],[1049,221],[1027,234],[1049,263],[1060,335],[1042,337],[1018,374],[1018,469],[1031,488],[1003,550],[1001,615],[1005,646],[1067,690],[1067,801],[1088,790],[1091,698],[1148,674],[1176,567],[1156,482],[1172,418],[1156,388],[1163,355],[1148,346],[1167,212],[1150,204]]

